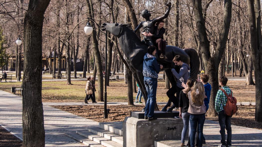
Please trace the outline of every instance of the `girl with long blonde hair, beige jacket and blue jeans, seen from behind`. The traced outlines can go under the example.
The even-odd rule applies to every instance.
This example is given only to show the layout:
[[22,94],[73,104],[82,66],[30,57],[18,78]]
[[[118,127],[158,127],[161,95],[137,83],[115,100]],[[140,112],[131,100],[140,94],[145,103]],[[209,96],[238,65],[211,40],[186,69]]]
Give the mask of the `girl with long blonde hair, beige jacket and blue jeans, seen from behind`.
[[205,122],[206,106],[204,103],[205,88],[203,83],[197,82],[194,89],[188,93],[190,114],[189,121],[191,126],[190,133],[190,145],[195,147],[195,133],[198,125],[198,147],[202,147],[203,141],[203,127]]

